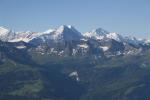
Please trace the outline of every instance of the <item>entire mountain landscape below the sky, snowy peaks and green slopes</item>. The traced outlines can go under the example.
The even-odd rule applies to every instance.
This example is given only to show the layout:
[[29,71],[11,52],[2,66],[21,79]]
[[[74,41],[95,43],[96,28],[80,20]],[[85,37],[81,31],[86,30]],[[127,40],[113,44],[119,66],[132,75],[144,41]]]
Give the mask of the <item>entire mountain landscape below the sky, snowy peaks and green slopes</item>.
[[0,100],[149,100],[150,40],[71,25],[0,27]]

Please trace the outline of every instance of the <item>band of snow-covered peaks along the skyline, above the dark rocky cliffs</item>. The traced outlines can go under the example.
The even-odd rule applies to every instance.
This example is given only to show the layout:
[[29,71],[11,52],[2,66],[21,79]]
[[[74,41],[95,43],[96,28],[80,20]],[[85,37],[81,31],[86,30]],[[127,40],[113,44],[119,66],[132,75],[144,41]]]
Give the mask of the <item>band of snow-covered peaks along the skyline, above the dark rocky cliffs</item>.
[[[74,36],[75,35],[75,36]],[[45,32],[14,32],[10,29],[5,27],[0,27],[0,40],[7,41],[7,42],[29,42],[32,39],[40,38],[44,36],[49,36],[49,38],[53,40],[59,40],[61,38],[64,39],[81,39],[81,38],[94,38],[97,40],[101,39],[114,39],[116,41],[129,41],[143,44],[149,44],[150,40],[147,39],[137,39],[135,37],[124,37],[115,32],[108,32],[102,28],[94,29],[90,32],[81,33],[77,29],[75,29],[71,25],[62,25],[56,29],[49,29]]]

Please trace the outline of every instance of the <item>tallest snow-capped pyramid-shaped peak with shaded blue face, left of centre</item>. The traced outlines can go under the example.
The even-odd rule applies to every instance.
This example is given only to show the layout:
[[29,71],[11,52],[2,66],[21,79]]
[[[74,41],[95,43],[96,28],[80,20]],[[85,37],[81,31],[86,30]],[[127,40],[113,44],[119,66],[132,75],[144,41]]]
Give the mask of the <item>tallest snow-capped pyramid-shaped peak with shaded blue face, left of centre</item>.
[[42,42],[59,42],[80,39],[82,35],[73,26],[62,25],[58,28],[49,29],[45,32],[38,33],[34,37],[34,40],[40,40]]

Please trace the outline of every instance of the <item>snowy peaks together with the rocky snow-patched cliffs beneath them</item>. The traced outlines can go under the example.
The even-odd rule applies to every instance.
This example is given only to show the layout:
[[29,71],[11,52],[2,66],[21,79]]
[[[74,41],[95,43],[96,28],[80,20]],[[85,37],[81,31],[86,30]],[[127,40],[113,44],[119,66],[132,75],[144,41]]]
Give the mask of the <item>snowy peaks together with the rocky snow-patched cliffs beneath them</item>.
[[[116,55],[137,54],[150,50],[150,41],[135,37],[124,37],[102,28],[81,33],[71,25],[62,25],[45,32],[14,32],[0,28],[3,42],[25,42],[36,46],[35,52],[57,56],[111,57]],[[18,49],[26,48],[17,46]]]

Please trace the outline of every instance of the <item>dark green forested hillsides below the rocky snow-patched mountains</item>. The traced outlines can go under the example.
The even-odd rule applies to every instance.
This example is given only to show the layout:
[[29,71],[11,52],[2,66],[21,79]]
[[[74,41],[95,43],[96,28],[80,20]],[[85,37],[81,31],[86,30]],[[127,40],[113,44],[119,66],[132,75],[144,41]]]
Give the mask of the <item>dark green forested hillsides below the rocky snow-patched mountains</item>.
[[110,58],[60,57],[0,49],[0,100],[148,100],[150,52]]

